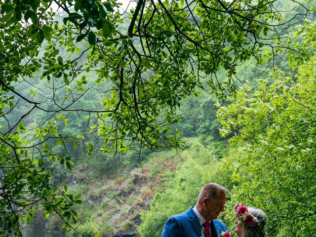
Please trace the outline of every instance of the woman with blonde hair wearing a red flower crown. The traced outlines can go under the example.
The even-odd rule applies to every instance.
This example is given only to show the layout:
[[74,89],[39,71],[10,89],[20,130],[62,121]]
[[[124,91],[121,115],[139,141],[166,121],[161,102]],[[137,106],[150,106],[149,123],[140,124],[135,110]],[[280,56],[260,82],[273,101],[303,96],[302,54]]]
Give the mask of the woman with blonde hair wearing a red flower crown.
[[244,204],[235,206],[237,227],[235,232],[238,237],[266,237],[266,214],[255,208],[246,208]]

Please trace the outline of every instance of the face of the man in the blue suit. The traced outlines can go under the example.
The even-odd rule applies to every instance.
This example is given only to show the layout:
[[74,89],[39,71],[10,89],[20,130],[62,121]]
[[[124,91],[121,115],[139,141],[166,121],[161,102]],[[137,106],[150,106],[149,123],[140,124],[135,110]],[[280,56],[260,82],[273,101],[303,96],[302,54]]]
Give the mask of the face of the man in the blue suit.
[[215,198],[211,200],[207,200],[204,207],[206,217],[204,217],[207,221],[215,220],[219,216],[219,214],[224,211],[224,206],[226,203],[226,195],[221,194],[217,195]]

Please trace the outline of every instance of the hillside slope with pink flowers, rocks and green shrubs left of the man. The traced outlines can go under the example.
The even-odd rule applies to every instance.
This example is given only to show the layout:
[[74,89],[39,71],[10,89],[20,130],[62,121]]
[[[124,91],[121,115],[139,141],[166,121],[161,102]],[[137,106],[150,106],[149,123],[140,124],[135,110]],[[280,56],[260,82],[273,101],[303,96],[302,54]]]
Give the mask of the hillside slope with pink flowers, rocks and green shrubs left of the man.
[[[147,155],[142,167],[121,162],[111,175],[102,173],[102,164],[86,161],[75,166],[67,178],[68,190],[82,193],[83,203],[76,209],[78,223],[73,227],[87,237],[95,232],[103,237],[160,236],[168,216],[194,205],[205,183],[230,186],[231,172],[220,169],[222,154],[216,154],[214,146],[203,145],[202,139],[185,139],[184,150]],[[39,221],[33,222],[34,228],[40,228]],[[50,230],[61,230],[58,218],[47,221]],[[73,230],[67,236],[78,233]]]

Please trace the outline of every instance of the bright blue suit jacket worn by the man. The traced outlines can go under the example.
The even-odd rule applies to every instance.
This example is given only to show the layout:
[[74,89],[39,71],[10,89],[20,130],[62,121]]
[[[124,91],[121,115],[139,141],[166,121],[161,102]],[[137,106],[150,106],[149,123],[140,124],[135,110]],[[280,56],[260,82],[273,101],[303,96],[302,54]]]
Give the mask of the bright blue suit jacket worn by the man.
[[[226,225],[219,220],[213,220],[213,223],[215,237],[221,237],[222,231],[227,230]],[[185,212],[171,216],[164,225],[161,237],[205,237],[193,206]]]

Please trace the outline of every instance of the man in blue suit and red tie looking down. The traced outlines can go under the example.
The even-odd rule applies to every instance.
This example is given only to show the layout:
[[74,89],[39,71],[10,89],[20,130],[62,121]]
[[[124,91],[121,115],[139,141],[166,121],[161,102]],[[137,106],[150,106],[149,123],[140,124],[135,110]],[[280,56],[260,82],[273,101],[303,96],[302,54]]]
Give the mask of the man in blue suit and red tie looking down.
[[221,237],[227,227],[216,219],[224,211],[227,192],[219,184],[206,184],[198,195],[197,205],[170,217],[161,237]]

